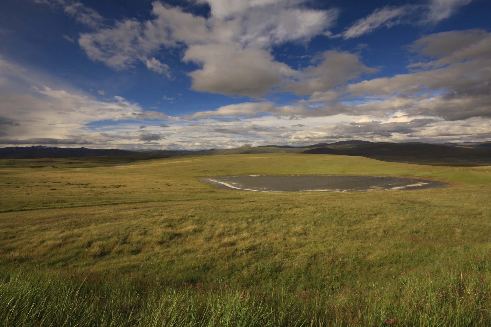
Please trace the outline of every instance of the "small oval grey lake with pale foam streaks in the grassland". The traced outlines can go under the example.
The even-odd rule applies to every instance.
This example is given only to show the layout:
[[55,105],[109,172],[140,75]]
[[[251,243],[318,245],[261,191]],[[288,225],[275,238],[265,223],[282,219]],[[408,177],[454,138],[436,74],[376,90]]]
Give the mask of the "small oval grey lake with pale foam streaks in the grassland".
[[366,192],[448,186],[434,180],[389,176],[241,175],[200,180],[222,189],[258,192]]

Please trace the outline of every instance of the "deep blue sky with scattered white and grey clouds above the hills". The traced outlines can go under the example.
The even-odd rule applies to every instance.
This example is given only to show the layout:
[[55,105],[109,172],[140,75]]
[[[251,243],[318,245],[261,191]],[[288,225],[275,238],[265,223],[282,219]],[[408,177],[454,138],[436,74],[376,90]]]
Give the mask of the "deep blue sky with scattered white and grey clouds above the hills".
[[0,147],[491,140],[489,0],[0,8]]

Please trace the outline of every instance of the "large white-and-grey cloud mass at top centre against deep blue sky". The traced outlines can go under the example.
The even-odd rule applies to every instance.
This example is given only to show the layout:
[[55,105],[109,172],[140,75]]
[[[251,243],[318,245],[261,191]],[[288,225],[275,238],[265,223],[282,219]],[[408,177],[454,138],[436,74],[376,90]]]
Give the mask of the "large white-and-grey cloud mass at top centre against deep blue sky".
[[273,59],[271,46],[308,41],[325,33],[338,15],[336,9],[302,7],[302,1],[210,0],[211,15],[204,18],[154,1],[154,19],[123,19],[104,25],[95,16],[93,24],[89,18],[82,19],[88,8],[78,1],[49,1],[63,6],[84,24],[95,26],[94,32],[82,33],[78,40],[92,60],[115,70],[134,68],[141,62],[170,77],[168,65],[155,55],[185,47],[183,60],[202,67],[190,73],[192,89],[253,98],[266,94],[281,84],[285,75],[292,74],[286,64]]

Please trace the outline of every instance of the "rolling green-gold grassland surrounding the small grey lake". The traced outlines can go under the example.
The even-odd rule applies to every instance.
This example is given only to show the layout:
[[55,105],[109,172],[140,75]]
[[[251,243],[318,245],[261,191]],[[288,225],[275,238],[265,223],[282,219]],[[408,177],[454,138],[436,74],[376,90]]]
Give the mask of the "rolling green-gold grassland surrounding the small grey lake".
[[[491,167],[297,153],[78,169],[6,162],[4,326],[491,324]],[[239,174],[411,176],[451,186],[263,193],[197,179]]]

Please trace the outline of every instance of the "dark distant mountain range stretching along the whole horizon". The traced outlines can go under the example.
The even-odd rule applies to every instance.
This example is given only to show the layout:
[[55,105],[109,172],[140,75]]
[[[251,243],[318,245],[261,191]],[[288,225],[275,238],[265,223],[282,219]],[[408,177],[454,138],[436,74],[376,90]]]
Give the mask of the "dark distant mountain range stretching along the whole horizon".
[[122,155],[155,155],[161,157],[183,155],[215,155],[215,154],[246,154],[246,153],[314,153],[357,155],[383,161],[491,161],[491,142],[465,142],[429,144],[422,142],[370,142],[362,140],[339,141],[334,143],[318,143],[308,146],[261,147],[243,146],[233,149],[209,149],[200,151],[128,151],[100,150],[87,148],[49,148],[9,147],[0,149],[0,159],[38,159],[68,158],[88,156],[122,156]]

